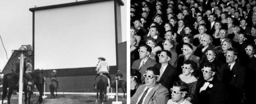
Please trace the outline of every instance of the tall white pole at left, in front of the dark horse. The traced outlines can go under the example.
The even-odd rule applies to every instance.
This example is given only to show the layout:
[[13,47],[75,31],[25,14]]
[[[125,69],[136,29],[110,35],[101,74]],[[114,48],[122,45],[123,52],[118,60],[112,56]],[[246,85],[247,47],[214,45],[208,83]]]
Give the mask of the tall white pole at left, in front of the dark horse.
[[23,65],[24,65],[24,52],[21,51],[20,54],[20,82],[19,82],[19,104],[22,104],[22,92],[23,92]]

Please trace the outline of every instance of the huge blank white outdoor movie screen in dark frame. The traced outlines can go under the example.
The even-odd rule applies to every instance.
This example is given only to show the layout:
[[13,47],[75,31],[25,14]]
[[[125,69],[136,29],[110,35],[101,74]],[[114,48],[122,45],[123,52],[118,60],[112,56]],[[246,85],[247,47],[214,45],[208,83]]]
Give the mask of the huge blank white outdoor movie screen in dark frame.
[[116,66],[113,1],[35,11],[35,68]]

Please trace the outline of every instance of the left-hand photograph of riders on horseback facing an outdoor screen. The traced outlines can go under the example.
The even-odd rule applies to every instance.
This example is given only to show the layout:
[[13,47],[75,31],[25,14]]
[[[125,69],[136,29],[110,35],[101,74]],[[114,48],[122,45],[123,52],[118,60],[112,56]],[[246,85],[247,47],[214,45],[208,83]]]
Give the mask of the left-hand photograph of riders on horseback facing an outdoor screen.
[[126,5],[0,1],[1,103],[127,103]]

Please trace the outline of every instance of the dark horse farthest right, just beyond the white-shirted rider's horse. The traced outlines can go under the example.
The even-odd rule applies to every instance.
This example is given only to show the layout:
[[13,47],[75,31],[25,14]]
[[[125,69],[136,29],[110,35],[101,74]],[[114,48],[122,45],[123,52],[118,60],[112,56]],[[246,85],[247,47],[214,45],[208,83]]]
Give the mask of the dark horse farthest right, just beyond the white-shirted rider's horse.
[[115,88],[115,91],[117,91],[118,89],[117,88],[122,88],[122,91],[124,92],[124,97],[123,99],[125,98],[125,92],[126,92],[126,81],[125,80],[119,80],[117,82],[117,86],[116,86],[116,81],[113,80],[112,81],[112,85],[111,85],[112,88]]

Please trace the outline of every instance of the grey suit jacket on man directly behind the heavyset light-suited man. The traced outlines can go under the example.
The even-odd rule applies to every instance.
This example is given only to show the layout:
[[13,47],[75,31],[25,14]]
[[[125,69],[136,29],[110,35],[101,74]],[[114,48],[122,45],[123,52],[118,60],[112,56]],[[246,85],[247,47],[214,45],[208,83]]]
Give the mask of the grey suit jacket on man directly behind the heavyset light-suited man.
[[[132,69],[139,70],[139,66],[141,65],[142,59],[136,60],[132,64]],[[152,67],[156,64],[156,61],[152,60],[151,58],[148,58],[148,60],[144,63],[143,67],[139,72],[141,72],[141,81],[144,83],[145,78],[143,76],[144,73],[146,73],[146,70],[148,67]]]

